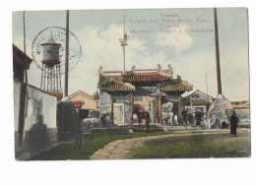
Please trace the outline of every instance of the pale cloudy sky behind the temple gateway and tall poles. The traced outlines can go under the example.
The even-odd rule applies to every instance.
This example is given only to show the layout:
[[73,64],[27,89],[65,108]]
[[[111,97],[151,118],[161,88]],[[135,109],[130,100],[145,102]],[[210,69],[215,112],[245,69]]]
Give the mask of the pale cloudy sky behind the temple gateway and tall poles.
[[[69,94],[79,90],[95,93],[99,66],[103,71],[123,70],[119,43],[123,37],[123,15],[128,32],[126,70],[131,70],[133,65],[136,69],[156,69],[158,64],[167,69],[170,64],[174,78],[180,75],[194,86],[193,92],[207,93],[207,77],[208,93],[216,97],[214,9],[211,8],[70,11],[70,31],[78,37],[82,52],[80,61],[69,72]],[[27,54],[32,57],[32,41],[40,31],[65,26],[65,11],[26,12]],[[248,100],[247,9],[219,8],[218,27],[223,94],[229,100]],[[13,13],[13,43],[23,50],[22,12]],[[32,63],[29,84],[39,87],[40,75]],[[189,93],[183,95],[186,94]]]

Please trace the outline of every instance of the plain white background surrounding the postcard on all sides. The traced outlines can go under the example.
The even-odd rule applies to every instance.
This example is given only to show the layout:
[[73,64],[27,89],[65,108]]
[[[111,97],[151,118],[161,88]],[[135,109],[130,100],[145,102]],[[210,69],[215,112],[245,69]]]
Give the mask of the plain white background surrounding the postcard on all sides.
[[[255,94],[255,18],[253,0],[106,0],[106,1],[4,1],[1,5],[1,179],[0,185],[254,185],[254,148],[251,158],[152,159],[98,161],[14,160],[12,11],[122,8],[248,7],[250,32],[251,95]],[[4,58],[2,57],[4,56]],[[255,97],[255,96],[254,96]],[[251,96],[254,129],[255,98]],[[252,135],[252,144],[254,143]],[[254,168],[255,169],[255,168]]]

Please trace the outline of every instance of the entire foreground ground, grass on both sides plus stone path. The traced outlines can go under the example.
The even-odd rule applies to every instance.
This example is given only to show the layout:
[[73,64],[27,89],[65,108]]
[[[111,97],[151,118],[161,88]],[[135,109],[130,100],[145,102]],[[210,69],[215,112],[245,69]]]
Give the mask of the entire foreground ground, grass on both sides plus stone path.
[[250,156],[250,130],[239,129],[237,137],[228,130],[171,130],[113,133],[93,132],[82,149],[65,144],[34,159],[125,159]]

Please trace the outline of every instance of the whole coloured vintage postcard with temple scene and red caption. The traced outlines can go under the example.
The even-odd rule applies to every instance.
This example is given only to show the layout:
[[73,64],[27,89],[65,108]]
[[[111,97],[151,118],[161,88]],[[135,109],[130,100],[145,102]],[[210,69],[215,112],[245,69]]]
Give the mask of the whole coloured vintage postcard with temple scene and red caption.
[[246,8],[12,22],[17,160],[251,156]]

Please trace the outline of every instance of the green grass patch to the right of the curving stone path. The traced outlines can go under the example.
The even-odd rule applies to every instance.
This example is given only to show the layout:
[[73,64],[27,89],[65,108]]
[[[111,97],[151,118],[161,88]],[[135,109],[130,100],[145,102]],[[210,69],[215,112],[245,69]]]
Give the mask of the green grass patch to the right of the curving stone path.
[[250,156],[249,135],[203,134],[172,137],[146,142],[129,158],[198,158]]

